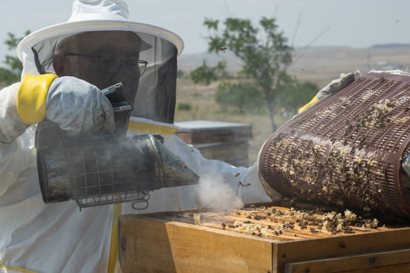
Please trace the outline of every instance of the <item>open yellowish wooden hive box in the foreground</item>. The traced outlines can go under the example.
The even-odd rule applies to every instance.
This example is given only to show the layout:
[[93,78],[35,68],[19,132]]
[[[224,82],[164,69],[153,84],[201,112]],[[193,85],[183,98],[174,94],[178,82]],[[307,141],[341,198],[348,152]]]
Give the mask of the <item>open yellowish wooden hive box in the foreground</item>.
[[[290,207],[285,201],[268,205]],[[198,214],[200,225],[193,219]],[[237,220],[273,224],[248,218],[210,208],[120,216],[122,272],[410,272],[408,227],[331,234],[295,226],[278,235],[268,229],[260,237],[234,231]]]

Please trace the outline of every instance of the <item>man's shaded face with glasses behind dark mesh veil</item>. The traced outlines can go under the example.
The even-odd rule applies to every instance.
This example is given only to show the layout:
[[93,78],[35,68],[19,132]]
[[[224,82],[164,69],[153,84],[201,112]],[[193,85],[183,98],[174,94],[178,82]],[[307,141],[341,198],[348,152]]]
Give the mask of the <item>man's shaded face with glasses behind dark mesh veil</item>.
[[84,79],[99,89],[122,82],[127,99],[134,103],[145,64],[139,58],[139,37],[128,31],[90,31],[61,41],[53,59],[58,76]]

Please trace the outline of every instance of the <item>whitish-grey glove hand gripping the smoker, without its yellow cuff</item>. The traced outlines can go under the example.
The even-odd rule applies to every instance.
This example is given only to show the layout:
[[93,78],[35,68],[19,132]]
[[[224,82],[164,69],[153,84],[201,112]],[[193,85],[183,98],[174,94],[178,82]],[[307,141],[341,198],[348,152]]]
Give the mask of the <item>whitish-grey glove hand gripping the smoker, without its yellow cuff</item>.
[[111,102],[97,87],[75,77],[53,80],[47,94],[46,118],[59,124],[67,136],[92,136],[101,127],[115,131]]

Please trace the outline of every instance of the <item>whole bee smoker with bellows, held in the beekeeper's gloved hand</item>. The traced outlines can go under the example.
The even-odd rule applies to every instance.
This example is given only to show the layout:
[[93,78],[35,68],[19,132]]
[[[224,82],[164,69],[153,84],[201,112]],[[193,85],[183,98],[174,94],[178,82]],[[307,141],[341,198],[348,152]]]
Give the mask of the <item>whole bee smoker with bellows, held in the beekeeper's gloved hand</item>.
[[[126,137],[132,106],[118,83],[103,90],[116,131],[69,138],[57,123],[38,124],[37,172],[45,203],[76,200],[81,208],[134,201],[148,207],[149,191],[192,185],[199,177],[153,135]],[[145,207],[136,206],[145,203]]]

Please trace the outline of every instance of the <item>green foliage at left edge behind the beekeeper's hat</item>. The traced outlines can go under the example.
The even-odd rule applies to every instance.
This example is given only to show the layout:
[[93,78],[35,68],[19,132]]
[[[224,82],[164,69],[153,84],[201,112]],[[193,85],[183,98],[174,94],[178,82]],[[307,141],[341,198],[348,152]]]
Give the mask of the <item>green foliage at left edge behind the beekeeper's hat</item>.
[[[7,45],[8,50],[15,50],[18,43],[27,35],[30,34],[30,30],[25,32],[23,37],[16,37],[15,34],[8,32],[8,38],[4,44]],[[10,84],[15,81],[19,81],[23,71],[22,62],[15,55],[6,55],[6,60],[3,61],[7,65],[6,68],[0,68],[0,82]]]

